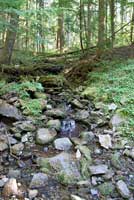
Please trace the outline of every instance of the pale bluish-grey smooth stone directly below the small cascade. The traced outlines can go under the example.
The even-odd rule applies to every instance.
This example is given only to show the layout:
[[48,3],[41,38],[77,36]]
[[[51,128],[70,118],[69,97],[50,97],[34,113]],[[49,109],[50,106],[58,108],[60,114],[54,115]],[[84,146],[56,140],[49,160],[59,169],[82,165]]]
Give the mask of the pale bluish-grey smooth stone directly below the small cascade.
[[72,142],[67,137],[58,138],[54,141],[54,147],[57,150],[68,151],[71,149],[72,145]]

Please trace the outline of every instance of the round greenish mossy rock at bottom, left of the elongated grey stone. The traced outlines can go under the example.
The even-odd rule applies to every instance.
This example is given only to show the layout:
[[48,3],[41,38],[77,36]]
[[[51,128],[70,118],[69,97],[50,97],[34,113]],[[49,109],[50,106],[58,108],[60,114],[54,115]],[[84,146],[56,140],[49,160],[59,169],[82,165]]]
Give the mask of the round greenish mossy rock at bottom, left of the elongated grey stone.
[[98,189],[103,196],[109,196],[113,194],[115,187],[111,182],[106,182],[98,186]]

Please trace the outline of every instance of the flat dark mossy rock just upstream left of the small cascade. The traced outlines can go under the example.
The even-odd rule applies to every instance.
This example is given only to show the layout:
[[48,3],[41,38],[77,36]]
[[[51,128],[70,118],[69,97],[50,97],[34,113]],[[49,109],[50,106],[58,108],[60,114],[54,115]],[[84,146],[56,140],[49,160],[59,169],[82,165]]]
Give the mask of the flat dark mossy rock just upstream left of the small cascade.
[[52,110],[47,110],[45,114],[48,117],[54,117],[54,118],[65,118],[66,113],[60,109],[52,109]]

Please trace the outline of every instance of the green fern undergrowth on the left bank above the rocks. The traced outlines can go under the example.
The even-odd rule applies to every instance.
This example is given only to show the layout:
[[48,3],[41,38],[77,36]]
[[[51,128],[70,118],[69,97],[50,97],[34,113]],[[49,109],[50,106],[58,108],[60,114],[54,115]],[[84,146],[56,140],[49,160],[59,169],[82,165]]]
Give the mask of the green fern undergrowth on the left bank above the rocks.
[[22,83],[6,83],[0,81],[0,96],[15,92],[21,103],[21,109],[26,115],[38,116],[42,112],[42,99],[32,99],[31,93],[43,92],[43,87],[38,82],[25,81]]

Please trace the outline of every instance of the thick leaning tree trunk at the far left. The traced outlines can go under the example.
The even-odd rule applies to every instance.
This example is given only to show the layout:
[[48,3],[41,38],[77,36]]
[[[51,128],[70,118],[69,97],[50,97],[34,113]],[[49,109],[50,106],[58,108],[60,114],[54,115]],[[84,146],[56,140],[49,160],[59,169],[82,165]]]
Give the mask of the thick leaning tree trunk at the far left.
[[10,15],[10,27],[7,30],[4,48],[0,55],[0,63],[2,64],[11,63],[13,47],[15,44],[16,33],[19,25],[18,22],[19,22],[19,15],[17,15],[16,13],[12,13]]

